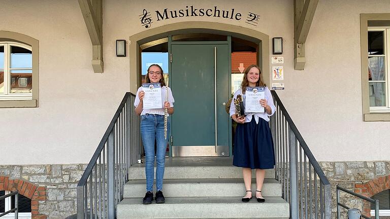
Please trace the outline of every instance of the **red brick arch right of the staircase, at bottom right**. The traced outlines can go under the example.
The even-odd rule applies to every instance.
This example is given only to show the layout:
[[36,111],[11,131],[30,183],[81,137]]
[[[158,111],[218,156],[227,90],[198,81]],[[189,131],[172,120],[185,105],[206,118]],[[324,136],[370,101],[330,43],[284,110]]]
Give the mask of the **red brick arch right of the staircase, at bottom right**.
[[[371,179],[364,184],[355,183],[355,193],[361,194],[366,197],[372,197],[384,190],[390,189],[390,175],[381,176],[378,178]],[[370,202],[364,201],[363,213],[370,215],[371,204]]]

